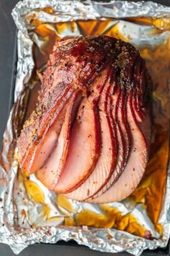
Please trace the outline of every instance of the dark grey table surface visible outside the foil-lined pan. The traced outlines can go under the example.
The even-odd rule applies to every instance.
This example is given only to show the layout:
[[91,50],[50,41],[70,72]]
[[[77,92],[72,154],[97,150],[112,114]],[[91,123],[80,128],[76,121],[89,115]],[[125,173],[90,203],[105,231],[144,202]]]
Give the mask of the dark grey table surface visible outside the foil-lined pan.
[[[12,106],[14,76],[16,67],[17,28],[12,20],[11,12],[18,0],[0,0],[0,145],[6,127],[6,121]],[[170,0],[155,1],[170,6]],[[0,256],[12,256],[14,253],[5,244],[0,244]],[[80,247],[75,242],[58,244],[34,244],[24,249],[19,256],[102,256],[110,253],[96,252],[87,247]],[[127,255],[124,253],[117,255]],[[144,252],[143,255],[170,255],[169,249],[158,249],[154,252]]]

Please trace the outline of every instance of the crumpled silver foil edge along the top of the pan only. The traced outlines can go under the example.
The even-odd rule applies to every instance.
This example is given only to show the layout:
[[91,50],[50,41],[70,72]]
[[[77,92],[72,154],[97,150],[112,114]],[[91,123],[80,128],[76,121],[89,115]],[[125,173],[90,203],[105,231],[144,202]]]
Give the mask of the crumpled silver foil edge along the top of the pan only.
[[[64,3],[64,4],[63,4]],[[24,16],[30,13],[32,9],[52,7],[57,14],[46,15],[45,21],[65,22],[72,20],[93,20],[102,17],[125,18],[125,17],[166,17],[170,13],[170,7],[153,3],[153,1],[79,1],[79,0],[24,0],[19,1],[12,12],[12,17],[18,30],[27,35],[27,26],[24,22]],[[81,12],[77,12],[81,10]]]

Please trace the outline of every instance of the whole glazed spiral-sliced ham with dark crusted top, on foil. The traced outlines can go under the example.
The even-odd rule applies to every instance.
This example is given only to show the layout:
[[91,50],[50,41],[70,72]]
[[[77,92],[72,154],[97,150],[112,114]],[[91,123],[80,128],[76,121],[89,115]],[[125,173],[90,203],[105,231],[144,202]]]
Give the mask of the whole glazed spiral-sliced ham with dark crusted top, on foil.
[[138,51],[108,36],[63,39],[40,80],[18,139],[21,170],[73,200],[128,197],[151,137],[151,82]]

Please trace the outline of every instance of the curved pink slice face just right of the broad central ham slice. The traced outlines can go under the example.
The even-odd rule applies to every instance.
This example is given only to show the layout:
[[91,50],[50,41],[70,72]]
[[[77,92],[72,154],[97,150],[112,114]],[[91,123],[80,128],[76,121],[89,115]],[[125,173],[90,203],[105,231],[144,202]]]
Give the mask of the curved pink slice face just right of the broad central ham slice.
[[94,195],[94,193],[104,187],[104,184],[107,183],[114,170],[116,161],[115,130],[112,129],[112,119],[109,117],[109,113],[107,113],[107,100],[110,87],[109,80],[107,80],[99,99],[99,119],[101,125],[100,155],[89,179],[86,179],[81,186],[66,195],[66,197],[73,198],[74,200],[86,200],[86,198]]

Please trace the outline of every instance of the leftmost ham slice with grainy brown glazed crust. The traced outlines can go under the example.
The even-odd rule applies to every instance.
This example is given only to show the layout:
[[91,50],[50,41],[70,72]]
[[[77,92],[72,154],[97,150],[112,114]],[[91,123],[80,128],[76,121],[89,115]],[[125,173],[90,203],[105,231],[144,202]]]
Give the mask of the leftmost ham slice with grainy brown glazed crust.
[[[37,108],[36,111],[33,111],[29,121],[26,121],[26,123],[24,124],[24,132],[22,132],[22,134],[20,135],[20,140],[18,142],[18,147],[20,148],[19,159],[21,158],[20,166],[22,168],[22,171],[30,174],[37,171],[36,163],[34,166],[34,161],[36,161],[38,157],[41,158],[41,147],[43,147],[46,142],[49,143],[49,145],[55,144],[55,142],[52,142],[50,140],[50,137],[53,133],[53,129],[55,129],[56,133],[55,139],[57,139],[57,136],[61,131],[61,124],[63,123],[63,116],[66,111],[66,108],[64,107],[66,106],[66,103],[68,101],[68,98],[70,98],[71,93],[71,90],[66,90],[66,93],[65,91],[63,92],[62,96],[64,98],[58,99],[58,101],[56,102],[58,108],[56,111],[56,106],[52,108],[51,115],[45,114],[45,116],[42,116],[42,106],[40,106],[40,108]],[[58,121],[57,123],[55,122],[55,124],[53,125],[55,119],[57,119]],[[32,124],[35,124],[35,127],[32,128]],[[37,136],[38,129],[40,130],[39,136]],[[47,132],[48,136],[46,136]],[[46,138],[48,137],[48,139],[46,139],[45,136]],[[32,145],[29,145],[30,140],[32,140]],[[46,151],[46,154],[48,154],[48,151]],[[39,159],[37,160],[37,162],[39,162]],[[42,160],[40,160],[40,162],[42,162]]]

